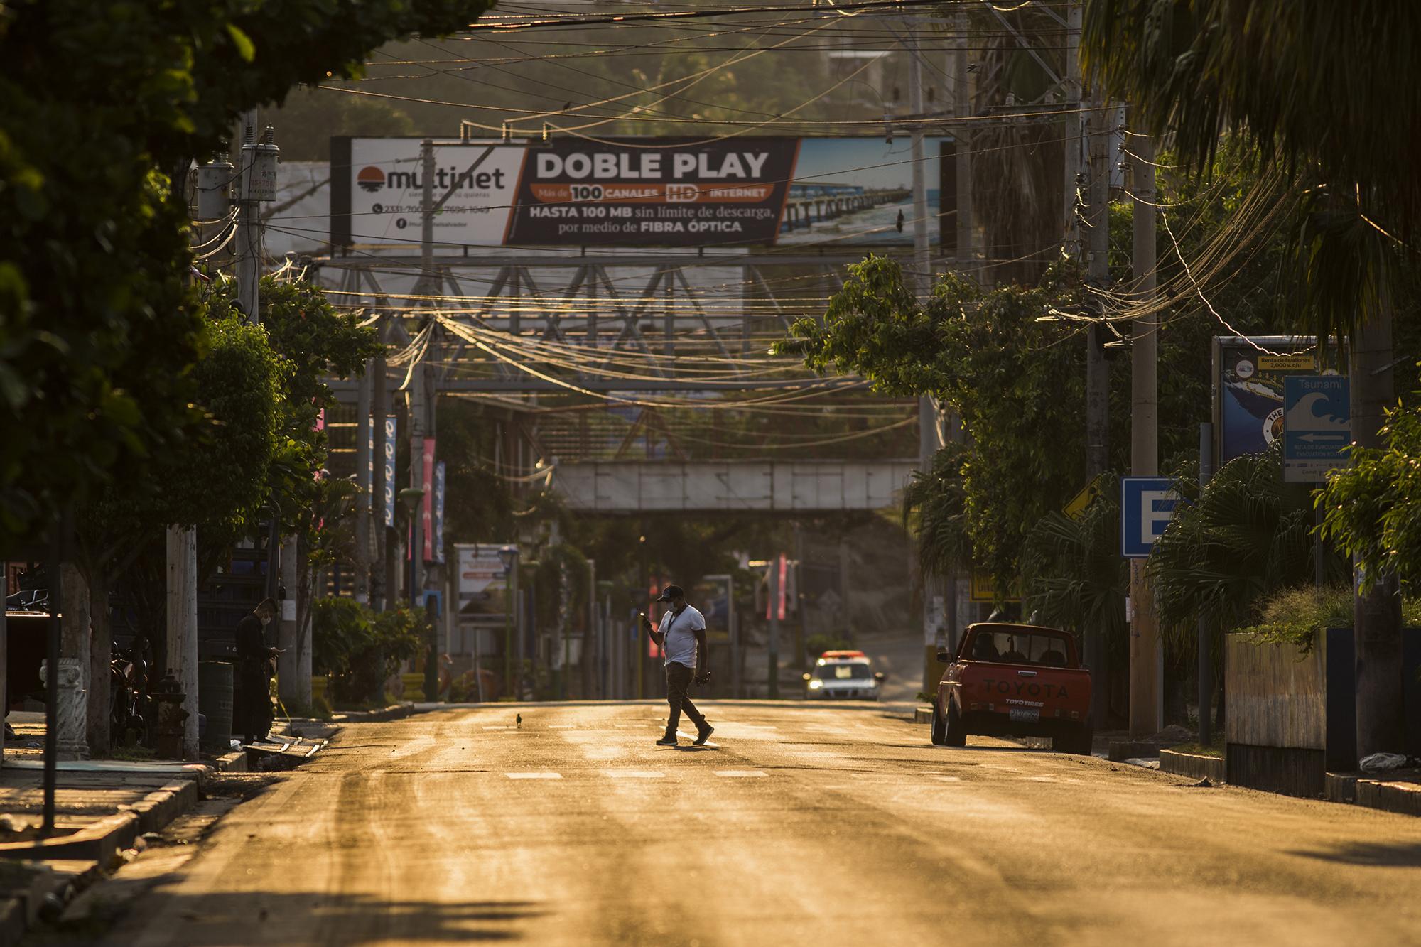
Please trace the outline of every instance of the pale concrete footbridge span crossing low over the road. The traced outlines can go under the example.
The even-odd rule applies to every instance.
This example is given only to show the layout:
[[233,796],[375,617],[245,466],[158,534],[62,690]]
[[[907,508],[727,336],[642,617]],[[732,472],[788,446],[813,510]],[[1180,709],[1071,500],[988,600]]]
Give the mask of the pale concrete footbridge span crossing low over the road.
[[918,462],[587,461],[558,464],[553,488],[587,513],[885,509],[901,502]]

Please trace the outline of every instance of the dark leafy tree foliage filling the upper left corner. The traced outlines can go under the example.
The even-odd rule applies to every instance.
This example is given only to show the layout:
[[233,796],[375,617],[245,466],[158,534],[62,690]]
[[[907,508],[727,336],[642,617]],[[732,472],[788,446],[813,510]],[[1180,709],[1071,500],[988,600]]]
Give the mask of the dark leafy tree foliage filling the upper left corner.
[[[166,451],[189,405],[202,304],[169,175],[237,114],[354,75],[482,0],[6,0],[0,4],[0,547]],[[101,152],[77,142],[101,142]]]

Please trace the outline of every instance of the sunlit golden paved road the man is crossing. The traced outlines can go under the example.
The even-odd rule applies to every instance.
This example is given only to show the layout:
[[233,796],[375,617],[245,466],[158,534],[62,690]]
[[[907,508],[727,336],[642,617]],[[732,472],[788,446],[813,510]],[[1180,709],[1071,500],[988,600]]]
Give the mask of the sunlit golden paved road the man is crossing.
[[867,705],[708,711],[718,749],[655,748],[651,704],[350,727],[111,941],[1421,943],[1418,819]]

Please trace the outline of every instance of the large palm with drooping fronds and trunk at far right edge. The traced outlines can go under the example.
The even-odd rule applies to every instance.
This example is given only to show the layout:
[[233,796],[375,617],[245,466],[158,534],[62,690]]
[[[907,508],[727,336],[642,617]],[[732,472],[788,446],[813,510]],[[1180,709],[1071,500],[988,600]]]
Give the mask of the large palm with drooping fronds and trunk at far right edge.
[[[1395,0],[1084,3],[1081,61],[1145,132],[1194,168],[1233,132],[1292,179],[1292,287],[1319,338],[1350,341],[1363,446],[1394,402],[1390,299],[1421,223],[1418,38],[1421,4]],[[1400,626],[1394,579],[1358,592],[1360,755],[1403,745]]]

